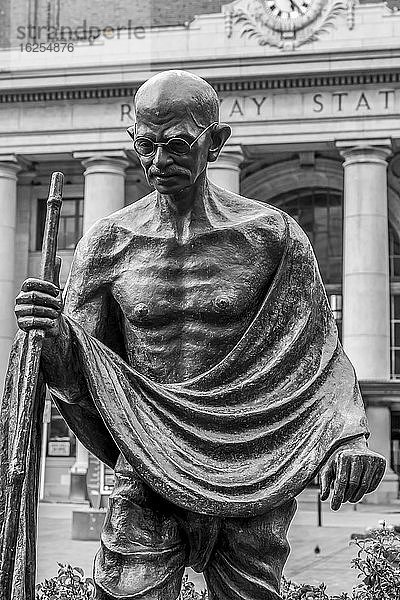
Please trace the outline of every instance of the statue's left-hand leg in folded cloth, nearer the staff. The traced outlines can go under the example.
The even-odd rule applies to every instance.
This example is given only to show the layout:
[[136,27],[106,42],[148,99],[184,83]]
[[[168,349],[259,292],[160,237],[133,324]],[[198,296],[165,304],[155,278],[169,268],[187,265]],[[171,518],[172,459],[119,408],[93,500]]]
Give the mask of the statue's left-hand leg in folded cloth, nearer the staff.
[[101,600],[175,600],[187,548],[172,506],[120,459],[94,564]]

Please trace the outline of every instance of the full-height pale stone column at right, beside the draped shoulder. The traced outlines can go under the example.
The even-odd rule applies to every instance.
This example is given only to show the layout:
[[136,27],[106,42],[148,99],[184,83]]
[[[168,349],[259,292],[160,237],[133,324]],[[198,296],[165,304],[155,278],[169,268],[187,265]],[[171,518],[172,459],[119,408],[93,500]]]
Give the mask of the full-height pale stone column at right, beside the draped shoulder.
[[[344,157],[343,346],[362,381],[390,378],[390,282],[387,207],[389,139],[338,142]],[[388,469],[368,502],[397,498],[390,468],[391,419],[384,398],[367,409],[369,445]]]

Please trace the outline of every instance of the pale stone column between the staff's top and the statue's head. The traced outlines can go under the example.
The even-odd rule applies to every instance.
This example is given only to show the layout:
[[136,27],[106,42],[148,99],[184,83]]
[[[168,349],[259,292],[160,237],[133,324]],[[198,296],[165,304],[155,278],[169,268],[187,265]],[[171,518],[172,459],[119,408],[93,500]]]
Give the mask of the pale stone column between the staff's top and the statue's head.
[[[129,162],[125,153],[76,152],[74,158],[82,161],[85,167],[85,192],[83,202],[83,232],[98,219],[125,206],[125,170]],[[76,461],[71,467],[70,499],[83,502],[88,499],[86,475],[89,466],[89,453],[76,440]]]

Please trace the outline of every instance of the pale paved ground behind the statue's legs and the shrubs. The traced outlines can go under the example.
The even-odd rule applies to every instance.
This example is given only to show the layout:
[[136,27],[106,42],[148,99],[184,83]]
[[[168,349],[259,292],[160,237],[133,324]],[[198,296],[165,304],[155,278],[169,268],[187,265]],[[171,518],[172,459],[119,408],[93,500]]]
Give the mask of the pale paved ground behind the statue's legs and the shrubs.
[[[38,581],[52,577],[57,572],[57,562],[82,567],[90,575],[93,556],[98,542],[71,540],[72,510],[76,505],[46,504],[39,511]],[[375,526],[380,519],[400,524],[400,507],[345,505],[337,513],[323,503],[323,526],[317,526],[316,502],[308,494],[299,502],[299,510],[290,528],[290,558],[285,575],[298,583],[328,585],[331,594],[350,591],[357,584],[357,573],[350,569],[355,556],[354,546],[349,546],[350,534],[363,532]],[[320,553],[315,553],[318,546]],[[202,576],[191,572],[196,586],[204,587]]]

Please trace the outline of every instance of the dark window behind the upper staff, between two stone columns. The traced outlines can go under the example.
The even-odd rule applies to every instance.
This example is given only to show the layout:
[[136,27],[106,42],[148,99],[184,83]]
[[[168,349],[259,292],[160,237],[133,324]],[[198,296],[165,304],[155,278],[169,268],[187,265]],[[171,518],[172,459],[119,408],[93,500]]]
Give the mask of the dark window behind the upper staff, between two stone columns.
[[[38,199],[38,218],[36,250],[41,250],[44,226],[46,220],[46,199]],[[65,198],[62,203],[60,227],[58,232],[58,249],[74,250],[82,237],[83,228],[83,199]]]

